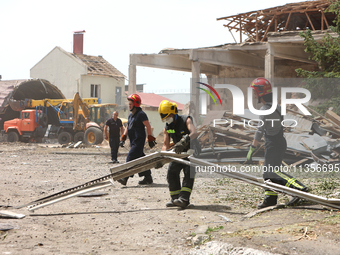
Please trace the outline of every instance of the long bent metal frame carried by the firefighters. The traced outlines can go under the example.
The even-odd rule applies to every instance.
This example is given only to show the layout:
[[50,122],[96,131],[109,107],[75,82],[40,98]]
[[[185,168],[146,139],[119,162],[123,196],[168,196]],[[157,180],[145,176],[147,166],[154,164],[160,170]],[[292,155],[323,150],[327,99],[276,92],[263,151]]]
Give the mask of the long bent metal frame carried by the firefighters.
[[[185,160],[184,158],[187,158],[187,160]],[[155,167],[158,163],[166,164],[172,161],[177,161],[179,163],[186,164],[192,167],[194,166],[219,167],[219,165],[217,164],[213,164],[205,160],[195,158],[193,156],[190,156],[189,154],[176,154],[174,152],[168,151],[155,152],[150,155],[121,164],[119,166],[112,167],[110,168],[111,174],[109,175],[86,182],[82,185],[70,189],[63,190],[61,192],[57,192],[50,196],[35,200],[33,202],[30,202],[28,204],[16,208],[27,207],[29,211],[34,211],[39,208],[69,199],[71,197],[78,196],[80,194],[84,194],[90,191],[114,185],[113,181],[117,181],[118,179],[143,172],[147,169]],[[264,189],[271,189],[276,192],[286,193],[291,196],[297,196],[306,200],[316,202],[318,204],[340,209],[340,199],[327,199],[321,196],[313,195],[310,193],[285,187],[276,183],[272,183],[270,181],[264,181],[262,178],[257,178],[255,176],[242,172],[225,171],[223,173],[219,172],[216,173],[233,179],[244,181],[249,184],[262,187]]]

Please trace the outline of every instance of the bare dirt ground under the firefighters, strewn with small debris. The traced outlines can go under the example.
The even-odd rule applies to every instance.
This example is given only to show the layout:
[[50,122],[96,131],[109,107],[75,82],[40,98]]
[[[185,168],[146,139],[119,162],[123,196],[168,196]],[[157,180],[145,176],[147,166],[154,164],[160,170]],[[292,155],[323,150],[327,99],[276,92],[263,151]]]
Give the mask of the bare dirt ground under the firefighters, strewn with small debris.
[[[126,152],[120,150],[121,163]],[[0,218],[0,227],[13,227],[0,231],[0,254],[221,254],[206,250],[216,241],[275,254],[340,254],[339,211],[303,203],[247,218],[263,190],[234,179],[198,176],[194,206],[166,208],[165,165],[152,170],[153,185],[139,186],[135,176],[126,188],[117,183],[92,193],[101,196],[73,197],[30,212],[14,207],[109,174],[109,147],[0,142],[0,160],[0,210],[26,215]],[[305,181],[312,193],[340,197],[338,179]],[[279,197],[280,203],[288,199]]]

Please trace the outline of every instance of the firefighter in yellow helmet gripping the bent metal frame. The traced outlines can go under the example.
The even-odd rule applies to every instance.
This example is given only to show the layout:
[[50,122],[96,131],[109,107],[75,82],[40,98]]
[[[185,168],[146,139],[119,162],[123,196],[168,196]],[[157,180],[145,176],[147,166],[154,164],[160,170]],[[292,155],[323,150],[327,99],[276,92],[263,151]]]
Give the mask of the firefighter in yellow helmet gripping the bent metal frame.
[[[158,113],[165,122],[164,143],[162,151],[170,148],[170,138],[175,143],[173,150],[176,153],[186,152],[190,149],[190,141],[197,138],[197,132],[190,116],[178,115],[177,104],[163,100],[158,108]],[[160,168],[161,165],[155,168]],[[180,172],[183,169],[184,178],[181,187]],[[171,202],[166,207],[179,206],[182,208],[190,204],[190,195],[194,185],[194,173],[190,176],[190,166],[178,162],[171,162],[168,167],[167,181]]]

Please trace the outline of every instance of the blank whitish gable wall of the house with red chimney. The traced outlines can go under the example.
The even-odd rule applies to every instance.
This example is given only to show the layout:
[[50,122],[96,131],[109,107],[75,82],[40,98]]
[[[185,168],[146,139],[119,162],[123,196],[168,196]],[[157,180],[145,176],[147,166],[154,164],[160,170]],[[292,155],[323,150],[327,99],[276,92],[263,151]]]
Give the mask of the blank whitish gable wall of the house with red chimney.
[[[30,70],[31,78],[41,78],[56,85],[66,98],[77,92],[77,79],[87,72],[85,64],[77,62],[60,47],[55,47]],[[82,95],[81,95],[82,96]]]

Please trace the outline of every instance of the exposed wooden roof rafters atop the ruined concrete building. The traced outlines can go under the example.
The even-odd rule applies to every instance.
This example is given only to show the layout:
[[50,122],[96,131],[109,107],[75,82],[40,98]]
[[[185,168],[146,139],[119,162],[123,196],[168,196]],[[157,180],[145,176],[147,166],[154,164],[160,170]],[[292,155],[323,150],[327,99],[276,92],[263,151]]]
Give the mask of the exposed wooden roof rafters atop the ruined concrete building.
[[249,42],[264,42],[267,41],[268,32],[329,29],[336,16],[335,13],[327,12],[329,5],[328,0],[291,3],[217,20],[228,21],[224,26],[230,32],[239,32],[240,41],[242,34],[245,34]]

